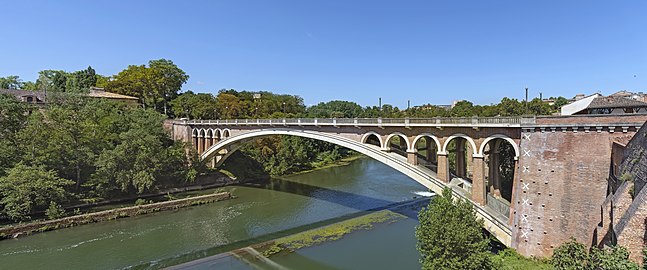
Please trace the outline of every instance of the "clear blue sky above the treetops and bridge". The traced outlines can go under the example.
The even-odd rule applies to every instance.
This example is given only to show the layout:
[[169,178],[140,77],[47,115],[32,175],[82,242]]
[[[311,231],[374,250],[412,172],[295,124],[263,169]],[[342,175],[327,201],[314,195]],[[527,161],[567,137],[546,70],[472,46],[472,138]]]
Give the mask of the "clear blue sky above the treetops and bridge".
[[0,76],[173,60],[184,90],[406,107],[647,92],[647,1],[2,1]]

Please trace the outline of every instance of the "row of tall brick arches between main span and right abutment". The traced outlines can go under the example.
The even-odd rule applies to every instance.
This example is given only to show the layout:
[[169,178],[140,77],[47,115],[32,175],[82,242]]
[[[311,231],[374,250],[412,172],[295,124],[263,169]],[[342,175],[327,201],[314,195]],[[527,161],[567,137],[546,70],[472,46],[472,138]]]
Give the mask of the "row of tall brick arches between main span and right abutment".
[[462,181],[476,202],[491,205],[508,216],[518,146],[503,135],[493,135],[480,142],[477,145],[477,141],[464,134],[446,138],[422,134],[412,138],[402,133],[369,132],[362,137],[362,143],[397,153],[413,165],[425,166],[445,182]]

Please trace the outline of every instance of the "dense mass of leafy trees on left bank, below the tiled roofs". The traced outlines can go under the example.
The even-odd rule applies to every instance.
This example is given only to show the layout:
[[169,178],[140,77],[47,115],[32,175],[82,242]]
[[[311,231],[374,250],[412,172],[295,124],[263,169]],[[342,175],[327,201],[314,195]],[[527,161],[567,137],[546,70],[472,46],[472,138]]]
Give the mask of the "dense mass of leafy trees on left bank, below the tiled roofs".
[[[48,95],[46,109],[0,95],[0,220],[191,184],[200,168],[164,116],[107,100]],[[6,116],[6,117],[5,117]]]

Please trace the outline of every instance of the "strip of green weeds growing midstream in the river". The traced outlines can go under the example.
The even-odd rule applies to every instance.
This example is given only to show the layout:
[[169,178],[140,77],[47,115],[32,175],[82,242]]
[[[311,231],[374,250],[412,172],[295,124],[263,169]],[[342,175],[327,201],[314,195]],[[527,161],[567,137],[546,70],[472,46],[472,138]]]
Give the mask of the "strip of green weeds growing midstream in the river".
[[263,256],[270,257],[282,252],[292,252],[300,248],[313,246],[327,241],[338,240],[353,231],[370,230],[373,228],[374,224],[395,222],[396,220],[403,218],[406,217],[389,210],[381,210],[325,227],[279,238],[255,248],[259,250]]

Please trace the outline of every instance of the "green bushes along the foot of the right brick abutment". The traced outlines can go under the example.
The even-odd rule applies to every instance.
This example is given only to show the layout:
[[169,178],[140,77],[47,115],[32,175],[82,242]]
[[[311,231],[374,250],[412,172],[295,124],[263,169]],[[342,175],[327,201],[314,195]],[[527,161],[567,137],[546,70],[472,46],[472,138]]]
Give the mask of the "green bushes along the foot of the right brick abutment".
[[526,258],[511,249],[494,254],[488,248],[483,221],[476,218],[470,203],[454,200],[449,188],[422,209],[418,219],[416,237],[423,269],[639,269],[624,247],[588,249],[575,239],[557,247],[547,259]]

